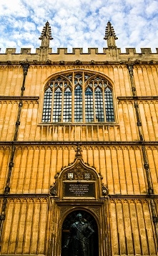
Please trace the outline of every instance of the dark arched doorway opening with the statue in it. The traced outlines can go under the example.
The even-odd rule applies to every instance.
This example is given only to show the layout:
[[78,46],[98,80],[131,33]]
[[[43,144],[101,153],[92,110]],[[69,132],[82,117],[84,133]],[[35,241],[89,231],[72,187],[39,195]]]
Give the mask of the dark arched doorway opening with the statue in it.
[[98,226],[87,211],[66,216],[61,232],[61,256],[99,256]]

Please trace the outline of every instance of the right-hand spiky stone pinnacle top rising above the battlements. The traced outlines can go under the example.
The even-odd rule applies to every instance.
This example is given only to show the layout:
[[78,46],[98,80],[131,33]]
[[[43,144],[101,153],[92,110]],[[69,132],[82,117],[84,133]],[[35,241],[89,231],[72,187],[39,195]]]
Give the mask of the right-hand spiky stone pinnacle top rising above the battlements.
[[114,33],[114,28],[113,28],[112,24],[110,23],[110,21],[107,22],[104,39],[107,40],[107,47],[109,49],[117,48],[117,46],[115,44],[115,40],[117,40],[118,38],[117,38],[116,34]]

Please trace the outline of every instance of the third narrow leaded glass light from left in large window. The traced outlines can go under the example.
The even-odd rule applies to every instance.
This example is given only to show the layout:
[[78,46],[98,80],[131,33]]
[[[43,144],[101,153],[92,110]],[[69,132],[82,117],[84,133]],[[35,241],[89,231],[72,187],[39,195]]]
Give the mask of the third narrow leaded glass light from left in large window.
[[71,90],[69,87],[64,92],[63,122],[71,122]]

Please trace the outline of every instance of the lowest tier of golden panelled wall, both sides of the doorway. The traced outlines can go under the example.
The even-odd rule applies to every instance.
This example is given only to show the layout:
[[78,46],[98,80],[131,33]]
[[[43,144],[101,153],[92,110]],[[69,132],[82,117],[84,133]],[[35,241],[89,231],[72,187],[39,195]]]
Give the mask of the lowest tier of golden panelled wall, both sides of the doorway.
[[[112,199],[110,211],[113,255],[156,255],[149,200]],[[1,255],[50,253],[53,220],[50,222],[46,198],[9,197],[6,220]]]

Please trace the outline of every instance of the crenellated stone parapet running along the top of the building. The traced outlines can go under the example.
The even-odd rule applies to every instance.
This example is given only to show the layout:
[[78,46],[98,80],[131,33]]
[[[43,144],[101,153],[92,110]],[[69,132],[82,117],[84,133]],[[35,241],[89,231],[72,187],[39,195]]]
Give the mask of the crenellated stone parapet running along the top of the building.
[[[89,48],[83,52],[83,48],[73,48],[71,52],[67,48],[58,48],[57,52],[52,52],[51,48],[39,47],[35,53],[31,53],[31,48],[21,48],[20,53],[16,53],[16,48],[6,48],[6,53],[0,54],[0,61],[158,61],[158,48],[152,53],[151,48],[141,48],[136,52],[135,48],[126,48],[122,52],[120,48],[103,48],[99,52],[97,48]],[[137,63],[138,63],[137,62]]]

